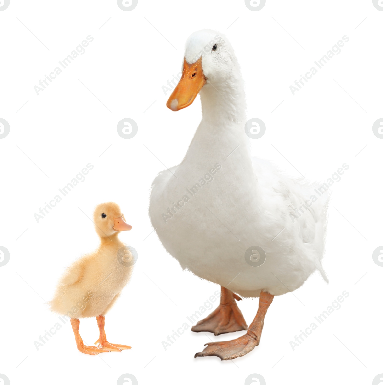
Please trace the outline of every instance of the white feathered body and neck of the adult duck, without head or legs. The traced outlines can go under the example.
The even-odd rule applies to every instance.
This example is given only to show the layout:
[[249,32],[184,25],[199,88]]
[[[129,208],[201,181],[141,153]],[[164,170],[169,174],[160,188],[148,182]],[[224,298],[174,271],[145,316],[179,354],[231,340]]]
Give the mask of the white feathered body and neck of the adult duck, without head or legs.
[[[194,54],[187,45],[188,55]],[[210,75],[203,86],[202,121],[183,161],[153,181],[150,219],[182,268],[242,296],[261,290],[281,295],[316,269],[326,279],[321,259],[328,198],[323,194],[295,218],[315,186],[250,156],[243,83],[233,63],[230,77]],[[250,246],[265,250],[261,266],[246,262]]]

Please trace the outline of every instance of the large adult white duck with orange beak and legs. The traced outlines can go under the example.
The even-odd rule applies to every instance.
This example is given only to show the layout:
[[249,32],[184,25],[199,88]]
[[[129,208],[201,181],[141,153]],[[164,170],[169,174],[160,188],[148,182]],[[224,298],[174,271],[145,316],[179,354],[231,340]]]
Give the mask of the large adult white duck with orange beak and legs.
[[250,156],[240,67],[232,46],[216,31],[188,38],[183,75],[167,106],[178,111],[198,93],[202,121],[183,161],[153,181],[149,214],[183,269],[221,285],[220,305],[193,331],[246,330],[234,293],[260,297],[245,335],[208,343],[195,355],[230,360],[259,344],[275,295],[296,290],[316,269],[328,281],[321,266],[328,194],[309,199],[315,186]]

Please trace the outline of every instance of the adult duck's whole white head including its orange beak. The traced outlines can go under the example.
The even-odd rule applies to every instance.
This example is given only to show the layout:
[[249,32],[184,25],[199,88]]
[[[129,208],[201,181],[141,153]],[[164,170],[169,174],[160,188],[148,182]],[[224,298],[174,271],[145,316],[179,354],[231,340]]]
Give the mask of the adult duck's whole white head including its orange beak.
[[220,32],[203,29],[190,35],[185,44],[182,77],[166,106],[173,111],[193,103],[202,87],[220,89],[241,80],[233,48]]

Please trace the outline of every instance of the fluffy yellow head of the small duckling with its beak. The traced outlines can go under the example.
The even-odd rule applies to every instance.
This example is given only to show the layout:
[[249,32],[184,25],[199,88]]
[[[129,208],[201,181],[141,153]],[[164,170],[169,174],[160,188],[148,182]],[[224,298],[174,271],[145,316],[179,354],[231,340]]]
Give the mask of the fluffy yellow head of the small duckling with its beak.
[[[123,219],[123,221],[120,222],[125,223],[125,217],[124,214],[121,213],[120,206],[118,206],[118,204],[114,202],[100,203],[94,209],[93,218],[95,229],[97,231],[97,234],[101,238],[109,237],[111,235],[119,233],[119,231],[114,229],[114,227],[116,227],[116,223],[120,218]],[[121,229],[130,230],[131,226],[129,227],[130,228]]]

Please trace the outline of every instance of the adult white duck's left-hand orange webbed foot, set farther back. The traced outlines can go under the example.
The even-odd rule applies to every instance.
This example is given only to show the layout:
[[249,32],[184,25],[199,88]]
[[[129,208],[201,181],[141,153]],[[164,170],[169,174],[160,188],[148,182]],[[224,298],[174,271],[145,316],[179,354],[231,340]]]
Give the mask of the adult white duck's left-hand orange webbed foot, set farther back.
[[197,322],[191,331],[210,331],[214,335],[247,330],[246,321],[235,300],[242,298],[221,286],[220,304],[206,318]]

